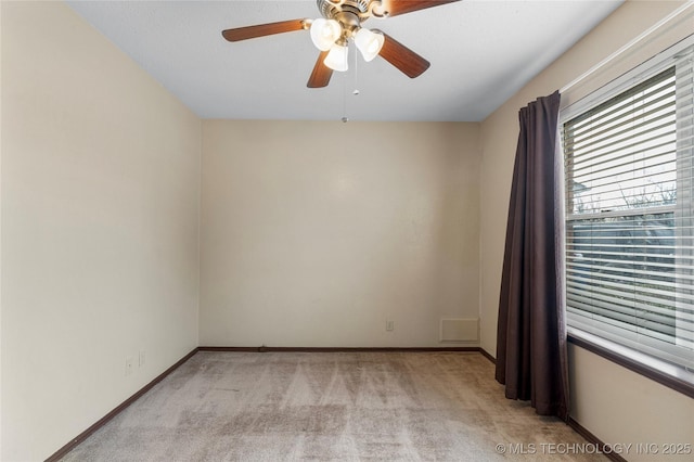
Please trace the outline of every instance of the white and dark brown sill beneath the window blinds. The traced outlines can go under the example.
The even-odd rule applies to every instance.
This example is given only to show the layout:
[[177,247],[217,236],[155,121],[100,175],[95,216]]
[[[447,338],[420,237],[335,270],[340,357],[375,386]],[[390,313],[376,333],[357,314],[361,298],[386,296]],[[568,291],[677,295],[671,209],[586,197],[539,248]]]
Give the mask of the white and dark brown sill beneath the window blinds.
[[570,328],[568,329],[568,341],[668,388],[694,398],[694,372],[692,371]]

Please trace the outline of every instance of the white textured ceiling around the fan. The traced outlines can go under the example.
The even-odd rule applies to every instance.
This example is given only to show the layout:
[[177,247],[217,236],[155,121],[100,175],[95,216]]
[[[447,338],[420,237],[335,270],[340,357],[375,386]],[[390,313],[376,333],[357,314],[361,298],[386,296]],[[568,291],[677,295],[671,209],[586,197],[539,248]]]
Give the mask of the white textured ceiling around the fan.
[[463,0],[372,18],[365,27],[423,55],[429,69],[410,79],[383,59],[359,56],[355,66],[352,53],[349,72],[324,89],[306,87],[318,57],[307,31],[235,43],[220,34],[319,17],[313,0],[67,3],[203,118],[478,121],[622,0]]

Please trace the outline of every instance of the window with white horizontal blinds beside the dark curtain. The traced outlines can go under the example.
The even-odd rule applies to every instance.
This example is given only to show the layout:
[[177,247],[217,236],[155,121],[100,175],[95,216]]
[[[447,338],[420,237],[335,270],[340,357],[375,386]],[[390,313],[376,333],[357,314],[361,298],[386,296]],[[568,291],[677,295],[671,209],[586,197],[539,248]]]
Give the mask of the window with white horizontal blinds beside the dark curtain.
[[567,108],[561,129],[569,328],[694,368],[687,40]]

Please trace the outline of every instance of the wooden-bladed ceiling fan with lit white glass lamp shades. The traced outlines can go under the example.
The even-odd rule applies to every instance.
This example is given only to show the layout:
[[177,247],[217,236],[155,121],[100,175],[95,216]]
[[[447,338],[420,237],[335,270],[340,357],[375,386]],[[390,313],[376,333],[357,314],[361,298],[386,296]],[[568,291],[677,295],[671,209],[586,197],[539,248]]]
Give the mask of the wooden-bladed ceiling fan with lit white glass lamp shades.
[[381,56],[410,78],[422,75],[429,62],[378,29],[361,24],[370,17],[391,17],[460,0],[317,0],[320,18],[291,20],[222,30],[229,41],[274,34],[309,30],[320,50],[307,87],[326,87],[333,70],[347,70],[348,40],[354,40],[365,61]]

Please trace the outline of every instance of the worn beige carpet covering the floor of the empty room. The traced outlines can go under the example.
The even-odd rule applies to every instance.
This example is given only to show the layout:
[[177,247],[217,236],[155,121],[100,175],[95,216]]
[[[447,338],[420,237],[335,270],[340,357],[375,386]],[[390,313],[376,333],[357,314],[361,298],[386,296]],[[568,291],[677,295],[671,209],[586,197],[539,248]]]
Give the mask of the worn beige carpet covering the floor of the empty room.
[[476,352],[200,351],[63,460],[606,460],[584,444]]

